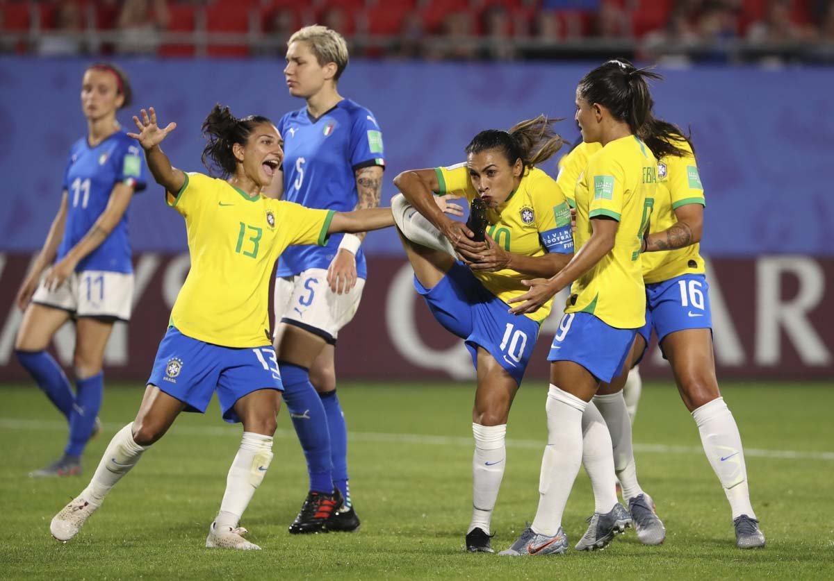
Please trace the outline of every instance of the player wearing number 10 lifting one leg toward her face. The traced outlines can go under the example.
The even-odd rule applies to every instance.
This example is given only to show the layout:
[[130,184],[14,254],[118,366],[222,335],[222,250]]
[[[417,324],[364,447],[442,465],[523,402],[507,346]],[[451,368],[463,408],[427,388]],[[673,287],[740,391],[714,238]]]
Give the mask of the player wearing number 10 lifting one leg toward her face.
[[[465,163],[404,171],[394,179],[402,195],[391,206],[414,268],[414,287],[435,319],[465,340],[477,371],[470,551],[492,552],[490,519],[504,476],[510,405],[540,322],[550,313],[548,300],[530,315],[510,315],[507,300],[525,293],[521,279],[552,276],[573,252],[570,209],[555,181],[535,167],[562,144],[552,123],[542,116],[509,132],[480,132],[466,147]],[[483,202],[485,222],[479,228],[472,215],[468,226],[444,216],[448,198],[435,204],[432,192],[466,196],[473,201],[472,215]],[[610,473],[615,494],[613,465]]]

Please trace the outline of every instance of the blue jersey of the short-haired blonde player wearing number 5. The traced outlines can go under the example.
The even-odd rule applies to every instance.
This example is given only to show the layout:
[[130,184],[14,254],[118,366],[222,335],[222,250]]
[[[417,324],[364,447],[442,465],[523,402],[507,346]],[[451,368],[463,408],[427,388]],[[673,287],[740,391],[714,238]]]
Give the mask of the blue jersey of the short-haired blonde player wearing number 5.
[[[289,112],[278,124],[284,137],[284,197],[309,208],[352,211],[359,195],[356,170],[385,166],[382,133],[373,113],[349,99],[318,119],[307,107]],[[341,234],[327,246],[289,246],[278,262],[277,276],[294,276],[308,268],[327,268],[339,250]],[[356,273],[367,276],[362,249]]]

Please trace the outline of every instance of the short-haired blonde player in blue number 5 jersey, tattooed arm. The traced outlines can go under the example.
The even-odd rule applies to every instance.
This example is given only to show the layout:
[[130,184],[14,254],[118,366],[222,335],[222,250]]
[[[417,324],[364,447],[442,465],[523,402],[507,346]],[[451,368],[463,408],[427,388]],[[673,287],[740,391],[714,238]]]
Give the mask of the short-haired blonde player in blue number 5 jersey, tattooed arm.
[[[289,37],[286,59],[289,94],[306,103],[278,124],[286,155],[269,195],[283,192],[284,200],[336,211],[379,206],[382,133],[373,113],[339,95],[348,65],[344,38],[327,27],[304,27]],[[289,527],[294,534],[359,528],[334,349],[362,296],[363,239],[364,233],[345,234],[322,247],[288,248],[276,273],[274,345],[309,472],[309,493]]]

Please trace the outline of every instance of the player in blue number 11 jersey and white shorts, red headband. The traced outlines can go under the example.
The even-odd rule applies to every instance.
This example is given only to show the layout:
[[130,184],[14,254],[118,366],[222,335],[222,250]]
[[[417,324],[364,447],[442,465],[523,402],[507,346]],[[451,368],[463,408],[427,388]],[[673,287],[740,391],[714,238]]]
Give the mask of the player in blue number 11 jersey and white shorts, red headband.
[[[104,348],[113,323],[130,319],[133,265],[127,211],[133,193],[145,188],[139,148],[116,121],[116,112],[130,99],[130,82],[119,67],[98,62],[84,71],[81,107],[87,135],[70,149],[58,215],[18,290],[23,323],[15,355],[69,422],[61,458],[32,476],[81,473],[84,446],[100,430]],[[74,395],[47,351],[55,332],[70,319],[76,329]]]

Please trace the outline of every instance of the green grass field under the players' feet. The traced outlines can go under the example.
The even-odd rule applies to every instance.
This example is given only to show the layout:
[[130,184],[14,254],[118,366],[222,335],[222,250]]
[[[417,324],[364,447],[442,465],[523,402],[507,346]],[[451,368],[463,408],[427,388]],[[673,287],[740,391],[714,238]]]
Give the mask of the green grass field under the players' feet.
[[[49,520],[87,484],[108,440],[133,419],[141,388],[108,386],[104,434],[88,446],[82,477],[28,478],[57,457],[66,423],[33,388],[0,388],[0,575],[5,579],[834,577],[834,392],[825,385],[725,383],[747,449],[751,494],[766,549],[735,548],[731,514],[701,452],[694,422],[671,385],[646,385],[635,426],[641,484],[667,530],[660,547],[634,531],[605,551],[507,559],[465,554],[471,505],[472,390],[454,384],[343,384],[351,432],[355,534],[290,536],[306,493],[304,458],[282,411],[275,457],[243,524],[264,550],[203,548],[239,444],[239,426],[185,414],[110,494],[78,537],[58,544]],[[512,543],[538,502],[545,385],[515,401],[508,463],[493,518],[496,549]],[[571,547],[593,511],[584,472],[565,513]]]

